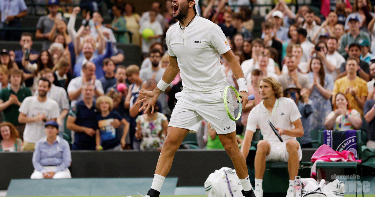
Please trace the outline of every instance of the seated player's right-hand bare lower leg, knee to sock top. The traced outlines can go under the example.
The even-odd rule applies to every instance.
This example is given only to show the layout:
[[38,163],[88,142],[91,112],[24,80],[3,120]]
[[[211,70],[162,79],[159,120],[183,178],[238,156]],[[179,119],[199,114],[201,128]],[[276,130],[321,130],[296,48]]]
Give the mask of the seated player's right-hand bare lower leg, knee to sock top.
[[299,168],[299,157],[298,157],[298,149],[299,149],[298,141],[290,139],[287,141],[287,151],[289,153],[288,159],[288,172],[289,172],[289,179],[294,180],[294,177],[298,175],[298,168]]

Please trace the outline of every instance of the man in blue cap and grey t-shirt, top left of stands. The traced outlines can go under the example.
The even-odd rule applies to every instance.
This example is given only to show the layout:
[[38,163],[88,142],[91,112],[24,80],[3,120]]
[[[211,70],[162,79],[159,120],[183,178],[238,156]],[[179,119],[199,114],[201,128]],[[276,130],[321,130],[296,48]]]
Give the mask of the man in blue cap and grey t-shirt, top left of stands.
[[48,0],[48,11],[49,14],[43,17],[40,17],[38,23],[36,24],[35,38],[43,39],[42,50],[47,50],[51,41],[49,41],[49,35],[56,20],[64,20],[61,13],[58,14],[58,9],[60,8],[58,0]]

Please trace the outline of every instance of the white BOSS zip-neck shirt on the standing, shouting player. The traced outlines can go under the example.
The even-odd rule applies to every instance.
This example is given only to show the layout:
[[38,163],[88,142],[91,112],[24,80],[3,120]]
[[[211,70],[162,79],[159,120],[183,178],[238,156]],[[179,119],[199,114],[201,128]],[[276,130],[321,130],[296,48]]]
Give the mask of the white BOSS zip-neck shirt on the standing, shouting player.
[[169,56],[177,57],[183,92],[214,93],[228,86],[219,59],[230,47],[217,24],[195,16],[184,30],[179,23],[171,26],[165,41]]

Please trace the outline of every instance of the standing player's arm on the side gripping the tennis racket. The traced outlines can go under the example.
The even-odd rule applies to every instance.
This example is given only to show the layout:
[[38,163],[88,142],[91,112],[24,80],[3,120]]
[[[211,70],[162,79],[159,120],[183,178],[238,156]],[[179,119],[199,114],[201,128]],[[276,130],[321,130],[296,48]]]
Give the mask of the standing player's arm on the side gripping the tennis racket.
[[[229,51],[227,51],[226,53],[223,53],[222,56],[228,62],[229,67],[231,67],[232,72],[237,79],[237,83],[239,84],[239,88],[240,88],[240,92],[239,92],[240,95],[242,96],[242,98],[248,98],[248,92],[247,92],[248,87],[246,86],[245,76],[243,75],[241,65],[238,62],[238,60],[237,60],[236,56],[234,55],[233,51],[231,49],[229,49]],[[241,78],[243,79],[243,83],[245,83],[245,84],[239,83],[239,79],[241,79]],[[246,91],[242,90],[241,85],[244,86],[242,88],[246,89]],[[242,100],[242,109],[245,108],[248,101],[249,101],[248,99]]]

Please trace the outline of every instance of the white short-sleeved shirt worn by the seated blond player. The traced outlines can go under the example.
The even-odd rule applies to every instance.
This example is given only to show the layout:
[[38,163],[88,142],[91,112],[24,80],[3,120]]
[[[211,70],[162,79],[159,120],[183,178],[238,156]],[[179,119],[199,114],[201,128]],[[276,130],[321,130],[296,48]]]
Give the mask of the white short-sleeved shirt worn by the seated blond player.
[[[272,131],[271,126],[267,123],[267,120],[270,120],[276,128],[294,129],[292,122],[298,120],[300,117],[301,114],[296,103],[290,98],[281,97],[276,99],[271,112],[264,107],[262,101],[250,111],[246,130],[255,132],[257,125],[259,125],[264,140],[280,142],[279,138]],[[289,139],[296,140],[296,137],[290,137],[288,135],[281,135],[281,138],[284,142]]]

